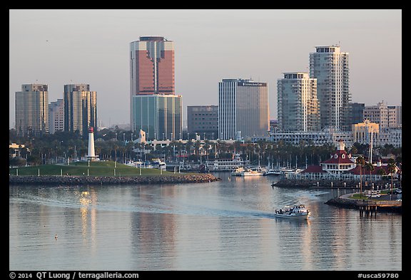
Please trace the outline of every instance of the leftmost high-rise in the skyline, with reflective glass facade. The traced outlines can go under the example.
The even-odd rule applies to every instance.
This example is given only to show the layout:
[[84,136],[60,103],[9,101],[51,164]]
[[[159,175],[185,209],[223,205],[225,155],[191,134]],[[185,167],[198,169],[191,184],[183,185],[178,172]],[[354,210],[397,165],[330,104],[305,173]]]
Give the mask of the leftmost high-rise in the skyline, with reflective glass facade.
[[49,91],[47,85],[21,85],[16,92],[16,135],[31,137],[49,133]]

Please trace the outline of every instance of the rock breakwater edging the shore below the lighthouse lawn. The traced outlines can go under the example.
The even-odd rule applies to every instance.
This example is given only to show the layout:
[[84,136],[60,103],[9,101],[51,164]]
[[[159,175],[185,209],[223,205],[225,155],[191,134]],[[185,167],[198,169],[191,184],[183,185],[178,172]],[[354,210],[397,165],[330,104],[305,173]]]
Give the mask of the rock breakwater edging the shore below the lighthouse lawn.
[[152,176],[9,176],[9,185],[150,185],[186,184],[218,181],[220,178],[210,173],[191,175]]

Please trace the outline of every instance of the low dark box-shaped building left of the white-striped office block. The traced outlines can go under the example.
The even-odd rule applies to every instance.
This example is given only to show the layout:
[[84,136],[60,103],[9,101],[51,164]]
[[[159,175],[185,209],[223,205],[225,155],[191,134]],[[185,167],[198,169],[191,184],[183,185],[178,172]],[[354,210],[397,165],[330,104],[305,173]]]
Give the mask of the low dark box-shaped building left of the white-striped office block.
[[218,106],[187,106],[187,132],[200,138],[214,140],[218,137]]

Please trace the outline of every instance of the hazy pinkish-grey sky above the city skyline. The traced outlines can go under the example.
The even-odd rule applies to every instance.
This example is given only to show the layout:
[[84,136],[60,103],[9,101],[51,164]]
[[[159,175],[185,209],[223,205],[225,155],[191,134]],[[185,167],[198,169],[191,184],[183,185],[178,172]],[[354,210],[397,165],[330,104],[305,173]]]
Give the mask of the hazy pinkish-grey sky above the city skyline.
[[64,85],[97,92],[98,125],[129,123],[130,43],[140,36],[174,42],[176,94],[188,105],[218,105],[223,78],[268,83],[277,118],[283,72],[308,72],[315,46],[340,44],[350,65],[352,102],[402,103],[400,9],[9,10],[9,126],[22,84],[49,85],[49,103]]

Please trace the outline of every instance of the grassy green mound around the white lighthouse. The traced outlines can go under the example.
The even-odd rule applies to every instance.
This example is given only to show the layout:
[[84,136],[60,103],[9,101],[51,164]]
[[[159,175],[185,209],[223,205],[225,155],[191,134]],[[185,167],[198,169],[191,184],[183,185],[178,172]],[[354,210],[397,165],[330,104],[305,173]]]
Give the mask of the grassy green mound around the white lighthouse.
[[[116,167],[114,167],[116,165]],[[88,175],[88,176],[138,176],[140,168],[111,161],[70,162],[70,165],[38,165],[9,168],[10,175]],[[188,174],[188,173],[186,173]],[[156,168],[141,168],[141,175],[181,175]]]

